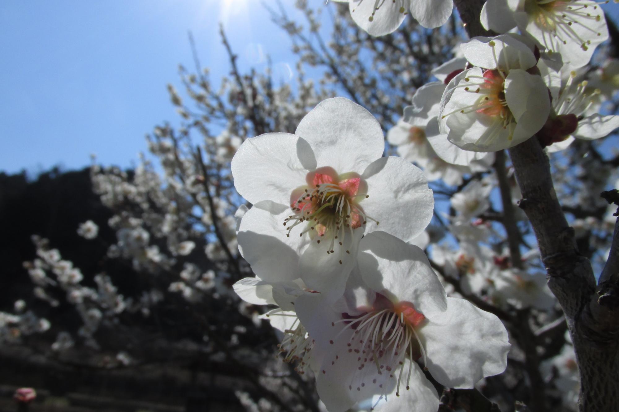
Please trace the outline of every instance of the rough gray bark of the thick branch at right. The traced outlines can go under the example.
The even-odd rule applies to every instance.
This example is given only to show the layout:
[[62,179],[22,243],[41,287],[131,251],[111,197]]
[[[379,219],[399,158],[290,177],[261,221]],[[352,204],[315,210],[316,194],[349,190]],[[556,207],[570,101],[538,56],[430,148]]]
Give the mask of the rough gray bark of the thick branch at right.
[[[483,0],[454,0],[469,36],[487,35],[480,26]],[[591,263],[578,252],[556,198],[550,163],[534,136],[509,149],[522,191],[519,206],[535,231],[548,286],[558,299],[574,343],[581,377],[581,412],[619,408],[619,223],[610,259],[595,283]],[[535,411],[537,412],[537,411]]]

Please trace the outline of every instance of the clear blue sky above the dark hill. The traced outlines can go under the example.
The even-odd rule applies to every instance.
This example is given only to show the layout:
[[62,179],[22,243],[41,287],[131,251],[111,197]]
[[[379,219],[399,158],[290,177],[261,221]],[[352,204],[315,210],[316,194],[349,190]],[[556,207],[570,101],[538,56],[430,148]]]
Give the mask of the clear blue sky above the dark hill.
[[[293,0],[282,2],[294,16]],[[166,85],[179,85],[178,64],[193,66],[189,30],[212,78],[227,74],[219,21],[241,67],[264,69],[259,49],[294,67],[288,36],[258,0],[0,2],[0,171],[81,168],[90,153],[133,165],[145,133],[177,122]]]

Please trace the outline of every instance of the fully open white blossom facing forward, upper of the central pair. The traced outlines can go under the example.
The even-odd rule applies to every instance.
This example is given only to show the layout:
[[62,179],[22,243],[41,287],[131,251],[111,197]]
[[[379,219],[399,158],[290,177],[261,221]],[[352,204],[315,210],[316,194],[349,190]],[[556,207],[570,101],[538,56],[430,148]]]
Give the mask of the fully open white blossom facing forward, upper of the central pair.
[[366,109],[345,98],[319,103],[295,135],[246,140],[232,160],[236,190],[253,207],[239,249],[266,281],[301,278],[337,298],[364,233],[409,241],[430,223],[432,191],[417,166],[381,158],[384,137]]

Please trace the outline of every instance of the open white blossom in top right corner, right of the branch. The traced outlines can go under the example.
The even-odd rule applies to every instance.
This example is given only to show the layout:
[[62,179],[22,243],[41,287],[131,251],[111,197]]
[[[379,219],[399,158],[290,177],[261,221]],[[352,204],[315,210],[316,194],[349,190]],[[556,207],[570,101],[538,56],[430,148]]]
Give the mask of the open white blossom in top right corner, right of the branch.
[[480,18],[498,33],[517,26],[549,53],[561,53],[573,68],[589,63],[608,38],[604,11],[592,0],[488,0]]

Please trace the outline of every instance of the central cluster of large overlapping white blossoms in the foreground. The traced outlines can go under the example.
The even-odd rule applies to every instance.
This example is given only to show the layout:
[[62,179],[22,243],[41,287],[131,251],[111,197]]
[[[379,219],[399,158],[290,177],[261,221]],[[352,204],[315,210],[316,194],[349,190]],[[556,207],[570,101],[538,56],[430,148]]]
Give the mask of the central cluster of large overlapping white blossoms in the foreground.
[[406,243],[430,222],[432,192],[420,169],[381,157],[383,145],[370,113],[333,98],[294,135],[248,139],[232,160],[236,189],[254,204],[238,241],[256,274],[235,291],[279,306],[267,316],[283,332],[280,350],[316,374],[329,411],[365,401],[436,411],[422,367],[472,388],[507,364],[501,321],[448,298],[423,251]]

